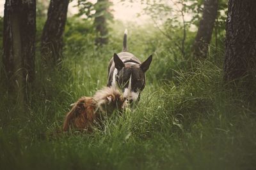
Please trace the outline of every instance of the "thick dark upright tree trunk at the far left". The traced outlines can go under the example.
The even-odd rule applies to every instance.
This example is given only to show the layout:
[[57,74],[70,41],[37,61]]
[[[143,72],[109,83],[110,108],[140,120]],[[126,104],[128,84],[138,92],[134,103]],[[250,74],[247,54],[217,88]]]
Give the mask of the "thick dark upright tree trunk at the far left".
[[22,91],[35,79],[36,1],[6,0],[3,64],[10,90]]

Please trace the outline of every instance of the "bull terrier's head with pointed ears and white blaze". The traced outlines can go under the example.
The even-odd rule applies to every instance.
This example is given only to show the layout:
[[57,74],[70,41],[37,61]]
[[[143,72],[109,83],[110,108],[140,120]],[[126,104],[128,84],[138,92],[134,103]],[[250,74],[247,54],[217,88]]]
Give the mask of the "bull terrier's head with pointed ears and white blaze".
[[124,99],[129,103],[140,99],[140,92],[145,87],[145,72],[148,70],[152,61],[152,55],[141,64],[136,62],[122,62],[114,53],[115,80],[116,85],[124,93]]

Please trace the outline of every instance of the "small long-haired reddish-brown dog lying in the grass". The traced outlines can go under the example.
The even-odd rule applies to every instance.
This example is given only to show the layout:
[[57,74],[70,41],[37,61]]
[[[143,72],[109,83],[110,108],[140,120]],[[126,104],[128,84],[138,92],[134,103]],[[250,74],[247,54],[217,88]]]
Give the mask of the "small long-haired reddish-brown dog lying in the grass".
[[124,108],[125,102],[119,90],[105,87],[97,91],[93,97],[81,97],[72,105],[72,109],[65,117],[63,131],[73,127],[92,132],[95,122],[100,123],[104,116],[113,113],[115,109]]

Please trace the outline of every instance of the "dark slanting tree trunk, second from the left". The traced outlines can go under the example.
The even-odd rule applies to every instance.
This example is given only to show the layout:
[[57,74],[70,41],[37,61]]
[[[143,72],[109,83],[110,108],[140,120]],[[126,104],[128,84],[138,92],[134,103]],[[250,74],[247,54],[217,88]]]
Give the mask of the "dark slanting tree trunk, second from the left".
[[67,20],[69,0],[51,0],[41,39],[42,61],[47,66],[60,64],[62,36]]

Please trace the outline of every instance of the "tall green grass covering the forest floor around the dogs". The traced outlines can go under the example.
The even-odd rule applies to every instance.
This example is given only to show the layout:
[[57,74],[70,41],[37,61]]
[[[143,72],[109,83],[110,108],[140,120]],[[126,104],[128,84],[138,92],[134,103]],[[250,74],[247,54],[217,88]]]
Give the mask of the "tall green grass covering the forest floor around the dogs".
[[38,57],[26,108],[1,82],[0,169],[255,169],[256,108],[225,86],[222,62],[186,68],[147,34],[129,37],[141,60],[154,52],[136,110],[114,113],[104,131],[60,132],[69,105],[106,85],[121,34],[98,50],[66,49],[58,69],[42,70]]

